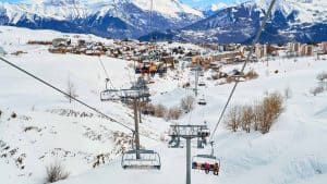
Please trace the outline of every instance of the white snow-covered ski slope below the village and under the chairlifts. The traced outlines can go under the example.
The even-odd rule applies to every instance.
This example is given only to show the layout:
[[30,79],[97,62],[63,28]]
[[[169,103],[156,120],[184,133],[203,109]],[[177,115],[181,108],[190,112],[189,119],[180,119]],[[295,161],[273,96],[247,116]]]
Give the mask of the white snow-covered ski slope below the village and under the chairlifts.
[[[63,36],[49,30],[31,30],[15,27],[0,27],[0,46],[7,52],[27,51],[25,54],[5,58],[17,65],[34,72],[44,79],[65,89],[68,78],[76,86],[80,99],[87,101],[108,115],[133,126],[132,110],[118,102],[100,102],[99,91],[105,87],[105,73],[97,57],[48,53],[46,46],[27,46],[28,39],[51,40]],[[73,38],[73,35],[66,35]],[[87,39],[109,41],[92,35],[81,35]],[[162,44],[165,45],[165,44]],[[179,44],[173,44],[179,45]],[[169,47],[169,46],[167,46]],[[185,46],[193,47],[195,46]],[[324,58],[324,57],[323,57]],[[326,58],[326,56],[325,56]],[[129,87],[133,81],[129,62],[102,57],[113,85]],[[240,65],[223,66],[223,71],[240,69]],[[268,134],[258,132],[231,133],[220,124],[215,139],[215,155],[221,160],[219,176],[192,171],[194,184],[325,184],[327,181],[327,91],[313,96],[310,89],[317,86],[316,75],[327,69],[326,60],[315,58],[276,58],[268,62],[251,63],[246,70],[254,69],[257,79],[240,83],[232,105],[249,105],[259,100],[267,93],[290,88],[291,98],[286,100],[286,110]],[[275,71],[278,70],[276,74]],[[120,167],[119,150],[129,148],[131,133],[94,112],[68,100],[60,94],[43,86],[28,76],[0,62],[0,140],[10,146],[4,150],[0,144],[0,181],[5,184],[45,183],[46,167],[60,161],[70,172],[70,177],[60,184],[180,184],[185,182],[185,149],[167,147],[167,131],[170,123],[165,120],[143,116],[141,143],[155,149],[161,156],[160,171],[123,170]],[[177,106],[181,98],[192,94],[181,85],[193,76],[189,70],[172,71],[164,78],[154,78],[150,85],[155,103]],[[177,77],[179,79],[174,79]],[[210,72],[205,73],[205,78]],[[130,79],[131,78],[131,79]],[[205,81],[207,86],[199,88],[207,106],[196,106],[182,116],[179,123],[198,124],[208,122],[213,128],[227,100],[232,85],[218,85]],[[85,112],[88,116],[70,114]],[[16,119],[10,118],[12,112]],[[93,114],[89,114],[93,113]],[[80,113],[77,113],[80,114]],[[25,131],[26,127],[34,127]],[[114,137],[114,133],[123,134]],[[162,138],[164,137],[164,138]],[[166,139],[166,140],[164,140]],[[121,142],[119,142],[121,140]],[[1,143],[0,142],[0,143]],[[192,155],[209,154],[207,147],[197,150],[195,144]],[[10,156],[10,150],[16,152]],[[106,155],[106,164],[93,169],[95,157]],[[15,160],[23,157],[23,170]]]

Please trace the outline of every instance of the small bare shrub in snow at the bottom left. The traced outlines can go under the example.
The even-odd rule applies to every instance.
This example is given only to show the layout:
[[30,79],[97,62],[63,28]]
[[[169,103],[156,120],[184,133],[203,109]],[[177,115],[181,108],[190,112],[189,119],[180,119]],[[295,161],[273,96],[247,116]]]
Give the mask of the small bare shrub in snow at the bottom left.
[[56,162],[47,167],[47,182],[55,183],[60,180],[65,180],[70,175],[69,172],[64,171],[64,168]]

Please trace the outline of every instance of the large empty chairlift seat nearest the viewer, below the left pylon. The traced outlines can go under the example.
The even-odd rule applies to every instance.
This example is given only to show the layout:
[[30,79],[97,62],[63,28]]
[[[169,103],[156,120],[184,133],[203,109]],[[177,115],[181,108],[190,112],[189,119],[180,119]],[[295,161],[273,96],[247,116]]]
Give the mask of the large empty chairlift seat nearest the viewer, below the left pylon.
[[158,152],[154,150],[140,149],[140,158],[136,158],[136,149],[123,154],[121,167],[123,169],[160,170],[161,161]]

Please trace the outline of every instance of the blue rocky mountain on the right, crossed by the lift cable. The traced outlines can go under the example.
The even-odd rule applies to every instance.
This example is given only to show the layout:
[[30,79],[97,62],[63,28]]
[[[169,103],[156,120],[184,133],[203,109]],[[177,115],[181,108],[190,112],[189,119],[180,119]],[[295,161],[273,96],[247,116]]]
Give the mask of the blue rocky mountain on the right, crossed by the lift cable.
[[[219,10],[211,16],[180,29],[174,39],[249,44],[253,40],[269,2],[255,0]],[[326,10],[326,0],[277,0],[261,42],[327,40]]]

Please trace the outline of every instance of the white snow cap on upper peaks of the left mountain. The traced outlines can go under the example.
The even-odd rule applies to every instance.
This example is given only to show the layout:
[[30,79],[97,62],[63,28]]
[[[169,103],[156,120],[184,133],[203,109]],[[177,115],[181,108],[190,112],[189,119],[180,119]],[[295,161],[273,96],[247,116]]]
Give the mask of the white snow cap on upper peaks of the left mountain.
[[[116,15],[114,8],[125,2],[131,2],[138,8],[149,11],[150,1],[148,0],[129,0],[129,1],[72,1],[72,0],[35,0],[29,3],[9,3],[2,2],[0,10],[3,9],[10,19],[10,22],[16,24],[23,16],[34,20],[34,15],[40,17],[51,17],[55,20],[72,20],[76,17],[86,17],[100,13],[101,15],[111,13]],[[116,4],[117,3],[117,4]],[[154,0],[154,11],[167,17],[180,19],[181,13],[192,14],[204,17],[201,11],[190,8],[186,4],[175,0]]]

